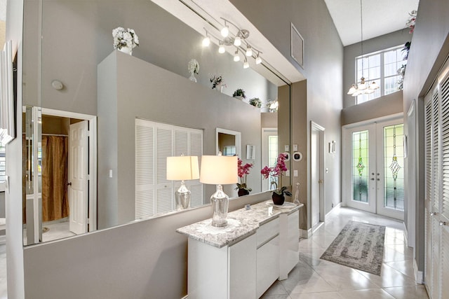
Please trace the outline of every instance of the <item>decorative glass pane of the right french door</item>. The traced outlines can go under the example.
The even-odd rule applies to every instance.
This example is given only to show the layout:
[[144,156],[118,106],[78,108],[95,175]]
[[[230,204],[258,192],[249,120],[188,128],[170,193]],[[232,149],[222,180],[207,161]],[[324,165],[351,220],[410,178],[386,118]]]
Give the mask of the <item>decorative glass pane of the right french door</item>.
[[403,124],[384,127],[384,207],[404,210]]

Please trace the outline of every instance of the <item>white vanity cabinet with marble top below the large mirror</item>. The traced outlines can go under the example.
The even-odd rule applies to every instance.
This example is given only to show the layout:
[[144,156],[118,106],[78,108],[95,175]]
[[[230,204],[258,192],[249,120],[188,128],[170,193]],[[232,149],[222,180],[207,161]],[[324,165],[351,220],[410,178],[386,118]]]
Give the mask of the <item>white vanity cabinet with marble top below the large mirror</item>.
[[299,209],[272,200],[228,214],[228,225],[211,219],[176,231],[189,237],[189,299],[260,298],[276,279],[287,279],[299,260]]

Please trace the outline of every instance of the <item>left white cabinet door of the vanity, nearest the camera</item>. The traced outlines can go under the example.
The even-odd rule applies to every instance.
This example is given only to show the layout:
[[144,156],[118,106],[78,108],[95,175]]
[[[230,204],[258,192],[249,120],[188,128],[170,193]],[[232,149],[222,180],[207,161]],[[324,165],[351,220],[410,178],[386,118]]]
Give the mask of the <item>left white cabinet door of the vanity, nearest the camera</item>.
[[[256,235],[247,237],[229,247],[229,296],[230,299],[255,297]],[[225,281],[224,281],[225,282]]]

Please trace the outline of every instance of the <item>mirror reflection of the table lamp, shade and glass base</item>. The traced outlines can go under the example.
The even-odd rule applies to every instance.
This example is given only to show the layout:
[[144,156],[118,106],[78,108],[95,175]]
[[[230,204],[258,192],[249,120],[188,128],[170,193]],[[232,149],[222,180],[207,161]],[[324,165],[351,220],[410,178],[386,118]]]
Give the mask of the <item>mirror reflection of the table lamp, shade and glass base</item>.
[[181,181],[181,186],[175,191],[176,209],[190,207],[190,190],[185,186],[185,180],[199,179],[198,157],[181,155],[167,157],[167,179]]

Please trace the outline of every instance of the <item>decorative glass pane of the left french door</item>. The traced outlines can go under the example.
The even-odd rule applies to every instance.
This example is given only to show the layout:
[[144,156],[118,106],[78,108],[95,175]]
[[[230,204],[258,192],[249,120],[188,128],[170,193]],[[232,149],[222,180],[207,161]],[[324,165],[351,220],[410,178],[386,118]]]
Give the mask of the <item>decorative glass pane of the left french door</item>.
[[368,130],[352,133],[352,200],[368,202]]

